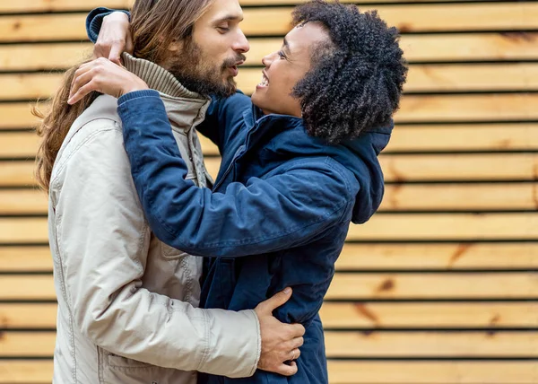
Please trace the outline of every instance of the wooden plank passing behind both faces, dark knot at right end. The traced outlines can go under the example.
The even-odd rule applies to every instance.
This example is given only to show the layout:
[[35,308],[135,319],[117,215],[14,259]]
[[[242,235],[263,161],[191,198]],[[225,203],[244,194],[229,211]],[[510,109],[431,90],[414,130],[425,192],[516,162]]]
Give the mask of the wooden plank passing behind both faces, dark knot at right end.
[[[404,35],[401,47],[413,61],[473,61],[536,59],[538,33],[475,33]],[[282,39],[250,39],[248,65],[278,50]],[[0,71],[65,69],[91,56],[91,43],[13,44],[0,46]]]

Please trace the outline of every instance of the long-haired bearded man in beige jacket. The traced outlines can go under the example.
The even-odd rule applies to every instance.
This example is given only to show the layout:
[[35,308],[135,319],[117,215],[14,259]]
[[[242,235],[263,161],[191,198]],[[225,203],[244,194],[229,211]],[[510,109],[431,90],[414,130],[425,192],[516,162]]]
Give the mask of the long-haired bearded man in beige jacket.
[[[231,0],[138,0],[133,8],[137,57],[126,55],[124,65],[166,100],[176,144],[189,159],[188,178],[199,187],[211,181],[194,127],[209,100],[178,79],[199,92],[232,92],[235,66],[248,50],[240,18]],[[233,33],[221,33],[232,23]],[[247,377],[256,368],[294,374],[296,366],[283,362],[298,355],[304,328],[272,316],[291,292],[256,310],[196,308],[201,258],[150,231],[117,100],[93,92],[77,107],[67,104],[77,67],[38,129],[58,296],[54,382],[191,384],[195,371]]]

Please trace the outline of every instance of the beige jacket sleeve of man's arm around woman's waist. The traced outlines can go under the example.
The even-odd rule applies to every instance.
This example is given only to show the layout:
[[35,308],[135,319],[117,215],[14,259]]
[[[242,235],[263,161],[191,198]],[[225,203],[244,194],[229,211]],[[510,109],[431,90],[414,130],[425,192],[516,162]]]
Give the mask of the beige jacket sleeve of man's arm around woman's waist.
[[51,184],[62,288],[76,326],[137,361],[251,376],[261,344],[254,311],[197,309],[143,288],[150,231],[122,143],[119,127],[88,135]]

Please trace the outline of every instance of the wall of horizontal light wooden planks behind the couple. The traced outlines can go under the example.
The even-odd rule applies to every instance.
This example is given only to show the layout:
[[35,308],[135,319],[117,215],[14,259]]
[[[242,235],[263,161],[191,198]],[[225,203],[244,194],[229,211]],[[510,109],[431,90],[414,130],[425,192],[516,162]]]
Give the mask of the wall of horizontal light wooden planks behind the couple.
[[[538,3],[378,1],[353,3],[400,28],[411,71],[381,159],[385,201],[351,227],[322,310],[331,383],[538,383]],[[251,92],[300,2],[241,3]],[[2,384],[49,383],[55,342],[29,105],[89,51],[86,13],[128,4],[0,3]]]

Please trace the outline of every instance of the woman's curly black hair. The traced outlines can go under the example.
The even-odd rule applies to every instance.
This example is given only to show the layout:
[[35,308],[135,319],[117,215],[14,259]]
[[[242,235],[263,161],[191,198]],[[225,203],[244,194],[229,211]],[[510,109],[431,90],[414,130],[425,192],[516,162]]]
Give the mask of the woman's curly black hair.
[[330,41],[311,48],[312,66],[291,95],[300,99],[309,135],[330,144],[390,124],[407,76],[399,32],[376,11],[314,0],[293,12],[293,25],[320,22]]

